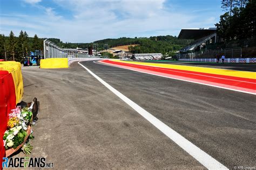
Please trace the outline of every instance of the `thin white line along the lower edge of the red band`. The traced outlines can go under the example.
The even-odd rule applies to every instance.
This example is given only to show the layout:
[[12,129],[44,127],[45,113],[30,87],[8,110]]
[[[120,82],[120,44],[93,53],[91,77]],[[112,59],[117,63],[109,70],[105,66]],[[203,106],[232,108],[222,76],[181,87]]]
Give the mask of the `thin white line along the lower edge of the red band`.
[[217,87],[217,88],[221,88],[221,89],[232,90],[232,91],[238,91],[238,92],[241,92],[241,93],[247,93],[247,94],[251,94],[251,95],[256,95],[256,93],[253,93],[253,92],[250,92],[250,91],[242,91],[242,90],[237,90],[237,89],[232,89],[232,88],[227,88],[227,87],[215,86],[215,85],[212,85],[212,84],[206,84],[206,83],[201,83],[201,82],[196,82],[196,81],[178,79],[178,78],[174,78],[174,77],[168,77],[168,76],[158,75],[158,74],[153,74],[153,73],[147,73],[147,72],[142,72],[142,71],[139,71],[139,70],[136,70],[136,69],[131,69],[131,68],[124,68],[124,67],[120,67],[120,66],[108,65],[107,63],[98,63],[98,62],[95,62],[95,61],[93,61],[93,62],[94,62],[94,63],[97,63],[98,65],[105,65],[105,66],[111,66],[111,67],[129,69],[129,70],[132,70],[132,71],[134,71],[134,72],[140,72],[140,73],[145,73],[145,74],[151,74],[151,75],[156,75],[156,76],[165,77],[165,78],[169,78],[169,79],[181,80],[181,81],[186,81],[186,82],[190,82],[190,83],[197,83],[197,84],[202,84],[202,85],[206,85],[206,86]]

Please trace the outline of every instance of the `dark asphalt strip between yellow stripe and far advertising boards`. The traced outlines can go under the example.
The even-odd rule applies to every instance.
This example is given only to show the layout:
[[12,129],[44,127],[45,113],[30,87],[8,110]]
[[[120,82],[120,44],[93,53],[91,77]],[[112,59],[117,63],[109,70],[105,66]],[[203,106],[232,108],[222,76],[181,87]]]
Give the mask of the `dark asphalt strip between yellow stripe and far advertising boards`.
[[185,62],[185,61],[143,61],[143,62],[166,63],[170,65],[211,67],[211,68],[256,72],[256,63],[224,63],[223,64],[223,63],[214,63],[214,62]]

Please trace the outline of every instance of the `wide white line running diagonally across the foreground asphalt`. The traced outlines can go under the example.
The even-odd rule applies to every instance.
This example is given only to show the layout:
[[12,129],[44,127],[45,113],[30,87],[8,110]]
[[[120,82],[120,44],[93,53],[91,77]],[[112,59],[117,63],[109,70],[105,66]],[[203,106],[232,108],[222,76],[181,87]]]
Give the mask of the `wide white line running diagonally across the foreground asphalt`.
[[131,101],[125,95],[114,89],[110,84],[106,83],[104,80],[100,79],[99,76],[94,74],[90,69],[83,66],[80,62],[78,62],[80,66],[84,67],[87,72],[89,72],[93,77],[95,77],[100,83],[102,83],[106,88],[108,88],[112,93],[117,95],[120,99],[122,99],[125,103],[130,105],[135,111],[138,112],[141,116],[143,116],[147,121],[156,126],[161,132],[163,132],[167,137],[169,137],[174,143],[179,145],[183,150],[185,150],[188,154],[190,154],[194,159],[198,160],[202,165],[204,165],[208,169],[228,169],[220,162],[212,158],[210,155],[202,151],[199,147],[192,144],[186,138],[181,136],[179,133],[171,129],[169,126],[161,122],[159,119],[151,115],[145,109],[140,107],[138,104]]

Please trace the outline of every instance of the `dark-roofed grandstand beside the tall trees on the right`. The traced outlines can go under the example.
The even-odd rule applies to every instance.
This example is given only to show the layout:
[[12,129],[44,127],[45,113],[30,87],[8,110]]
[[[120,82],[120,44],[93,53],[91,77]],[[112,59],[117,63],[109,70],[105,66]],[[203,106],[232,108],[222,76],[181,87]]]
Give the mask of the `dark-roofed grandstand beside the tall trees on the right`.
[[181,29],[178,39],[194,40],[180,49],[176,55],[178,59],[216,58],[217,54],[225,55],[226,58],[246,58],[254,57],[256,54],[255,37],[224,43],[214,27]]

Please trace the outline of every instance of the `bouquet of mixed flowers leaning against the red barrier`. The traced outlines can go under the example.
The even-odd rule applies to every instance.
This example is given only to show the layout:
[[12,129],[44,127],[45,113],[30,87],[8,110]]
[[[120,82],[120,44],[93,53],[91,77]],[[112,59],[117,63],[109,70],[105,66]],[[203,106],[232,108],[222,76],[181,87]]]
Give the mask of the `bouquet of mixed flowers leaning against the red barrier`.
[[5,131],[3,137],[5,150],[17,148],[24,142],[27,136],[26,130],[32,121],[32,112],[29,110],[29,108],[21,109],[20,107],[11,110],[7,123],[8,130]]

